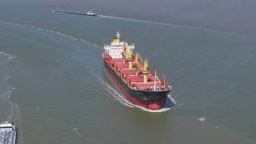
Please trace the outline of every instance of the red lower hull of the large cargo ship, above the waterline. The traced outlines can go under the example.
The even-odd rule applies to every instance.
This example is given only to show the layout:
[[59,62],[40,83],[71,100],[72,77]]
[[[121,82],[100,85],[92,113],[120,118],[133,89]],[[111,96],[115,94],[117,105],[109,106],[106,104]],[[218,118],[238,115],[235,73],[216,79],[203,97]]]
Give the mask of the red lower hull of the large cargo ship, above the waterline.
[[158,102],[153,102],[153,101],[148,101],[148,100],[141,100],[141,99],[136,99],[134,97],[131,97],[131,95],[127,94],[126,91],[121,87],[121,85],[118,83],[117,80],[115,80],[114,76],[105,68],[111,79],[115,82],[115,84],[118,86],[118,88],[121,90],[121,92],[125,95],[125,98],[130,101],[132,104],[138,105],[145,107],[150,110],[159,110],[162,107],[164,107],[166,103],[166,98],[158,101]]

